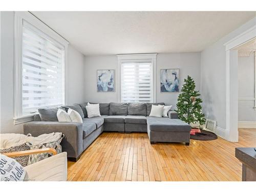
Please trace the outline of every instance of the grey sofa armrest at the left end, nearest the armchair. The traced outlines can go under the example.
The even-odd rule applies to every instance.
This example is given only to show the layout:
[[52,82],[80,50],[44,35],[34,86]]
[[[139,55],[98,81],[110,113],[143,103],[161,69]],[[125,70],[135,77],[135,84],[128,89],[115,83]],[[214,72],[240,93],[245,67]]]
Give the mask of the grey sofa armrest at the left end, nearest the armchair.
[[82,153],[82,123],[57,121],[31,121],[23,126],[24,134],[37,137],[42,134],[61,132],[65,137],[61,141],[62,151],[68,157],[77,158]]

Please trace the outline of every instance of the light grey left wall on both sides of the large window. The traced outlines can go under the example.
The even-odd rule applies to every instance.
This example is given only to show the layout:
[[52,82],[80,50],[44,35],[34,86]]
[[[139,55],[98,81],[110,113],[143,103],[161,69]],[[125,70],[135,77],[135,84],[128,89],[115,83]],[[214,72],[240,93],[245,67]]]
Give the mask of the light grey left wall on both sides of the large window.
[[[68,49],[68,103],[83,102],[83,55]],[[1,133],[23,133],[23,124],[13,124],[14,12],[1,12]],[[78,86],[80,85],[80,86]]]

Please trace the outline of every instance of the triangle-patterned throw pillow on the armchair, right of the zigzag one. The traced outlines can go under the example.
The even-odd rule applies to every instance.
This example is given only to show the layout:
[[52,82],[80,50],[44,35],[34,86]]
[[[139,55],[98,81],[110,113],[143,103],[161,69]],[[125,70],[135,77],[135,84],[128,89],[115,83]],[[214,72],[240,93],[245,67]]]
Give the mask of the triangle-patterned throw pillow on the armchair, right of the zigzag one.
[[[61,140],[65,137],[65,135],[62,134],[61,138],[58,139],[57,141],[53,141],[50,143],[43,143],[40,145],[32,145],[31,143],[28,143],[29,147],[31,150],[35,150],[37,148],[54,148],[57,153],[61,153],[62,152],[62,148],[60,145]],[[51,157],[52,154],[51,153],[40,153],[40,154],[34,154],[34,155],[30,155],[29,156],[29,160],[28,160],[28,165],[33,164],[37,161],[46,159],[48,157]]]

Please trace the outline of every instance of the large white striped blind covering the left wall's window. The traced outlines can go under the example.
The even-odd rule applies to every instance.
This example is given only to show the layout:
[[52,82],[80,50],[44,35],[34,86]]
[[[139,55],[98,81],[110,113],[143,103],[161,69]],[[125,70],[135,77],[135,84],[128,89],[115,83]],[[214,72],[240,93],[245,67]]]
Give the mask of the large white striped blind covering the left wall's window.
[[23,115],[64,103],[65,48],[23,20]]

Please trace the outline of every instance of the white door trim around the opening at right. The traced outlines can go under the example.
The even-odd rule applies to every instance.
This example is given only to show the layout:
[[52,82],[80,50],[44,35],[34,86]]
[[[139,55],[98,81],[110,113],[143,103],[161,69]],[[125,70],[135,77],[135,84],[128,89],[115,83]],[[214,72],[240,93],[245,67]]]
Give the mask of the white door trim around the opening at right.
[[226,47],[226,129],[225,139],[228,141],[238,142],[238,79],[232,78],[236,65],[232,65],[232,49],[245,44],[247,41],[256,37],[256,25],[232,38],[224,44]]

